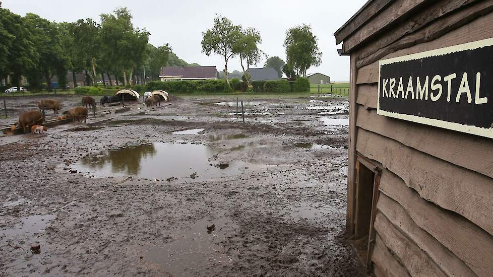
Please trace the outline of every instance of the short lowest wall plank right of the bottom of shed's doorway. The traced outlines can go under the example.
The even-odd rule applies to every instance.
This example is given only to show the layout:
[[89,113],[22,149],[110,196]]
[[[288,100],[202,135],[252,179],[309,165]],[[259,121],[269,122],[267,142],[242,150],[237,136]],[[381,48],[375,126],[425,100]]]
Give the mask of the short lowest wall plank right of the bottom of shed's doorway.
[[387,246],[377,234],[375,240],[375,250],[373,251],[372,261],[380,269],[383,276],[388,277],[407,277],[409,272],[406,268],[390,253]]

